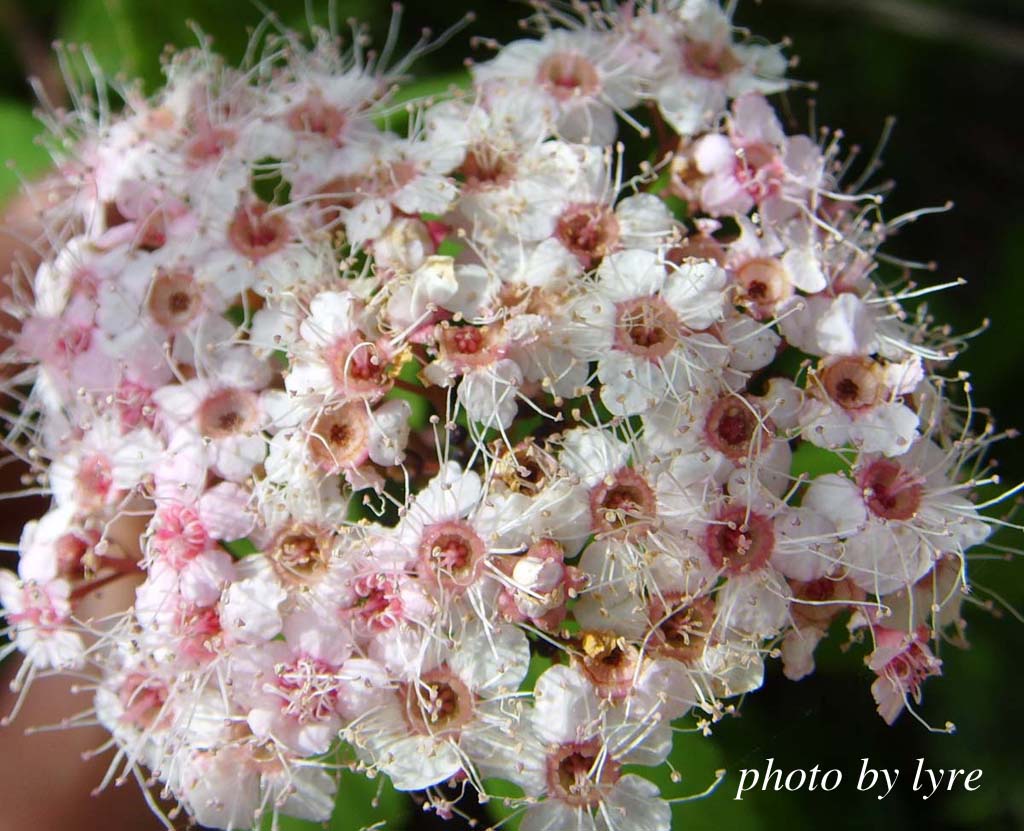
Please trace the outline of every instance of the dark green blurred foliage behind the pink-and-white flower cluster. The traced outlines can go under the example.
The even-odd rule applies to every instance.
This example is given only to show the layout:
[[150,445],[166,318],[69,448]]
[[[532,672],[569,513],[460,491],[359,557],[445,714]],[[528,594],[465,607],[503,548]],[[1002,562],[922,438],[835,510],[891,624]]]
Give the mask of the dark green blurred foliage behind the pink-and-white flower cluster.
[[[301,1],[267,5],[287,24],[304,25]],[[336,12],[342,20],[367,20],[382,36],[390,5],[342,0]],[[404,5],[402,39],[410,44],[424,27],[439,32],[465,11],[477,12],[465,33],[419,61],[415,70],[421,78],[459,73],[472,34],[515,38],[516,20],[526,11],[522,4],[498,0],[412,0]],[[314,2],[312,7],[318,21],[326,21],[326,5]],[[141,76],[152,89],[159,82],[164,45],[195,42],[186,20],[195,20],[221,51],[237,58],[247,27],[260,19],[262,8],[248,0],[0,0],[0,160],[14,160],[30,176],[46,166],[45,154],[32,141],[37,126],[25,77],[32,73],[48,84],[58,83],[48,46],[53,39],[90,43],[108,72]],[[939,269],[924,275],[925,281],[969,280],[930,305],[938,319],[961,332],[991,321],[990,330],[971,342],[958,367],[970,370],[975,401],[991,409],[998,426],[1024,427],[1024,391],[1018,386],[1024,386],[1024,141],[1019,127],[1024,3],[743,0],[736,20],[768,40],[792,38],[791,53],[800,56],[793,75],[820,85],[817,91],[797,90],[785,99],[792,129],[806,128],[807,100],[814,97],[819,125],[843,128],[848,143],[869,151],[886,117],[898,117],[882,173],[897,182],[888,214],[946,200],[955,209],[906,227],[888,250],[935,260]],[[0,170],[0,202],[14,187],[13,173]],[[1024,440],[1006,442],[994,454],[1006,482],[1024,478]],[[18,520],[9,517],[14,528],[5,538],[16,538]],[[1002,534],[998,541],[1019,546],[1021,537]],[[1024,828],[1024,623],[1000,612],[999,602],[992,611],[982,606],[997,595],[1014,608],[1024,608],[1024,567],[978,558],[971,571],[979,601],[967,611],[972,649],[942,651],[946,676],[926,685],[922,707],[933,724],[954,721],[956,735],[930,735],[907,715],[887,728],[868,692],[871,673],[858,656],[841,654],[833,639],[823,645],[812,677],[793,684],[773,666],[765,688],[743,703],[739,717],[717,726],[712,739],[680,736],[674,762],[683,781],[672,784],[666,777],[667,796],[701,790],[718,768],[729,774],[712,797],[679,804],[674,828]],[[757,792],[734,800],[738,771],[763,771],[768,757],[786,771],[839,768],[844,782],[831,794]],[[886,799],[855,791],[863,757],[874,768],[900,770]],[[909,782],[919,757],[933,769],[981,769],[980,790],[957,789],[922,800]],[[379,810],[369,810],[376,785],[368,790],[346,780],[345,790],[351,796],[331,826],[338,831],[385,816],[399,817],[389,824],[395,829],[467,827],[459,821],[444,824],[387,792]],[[473,799],[464,807],[484,816]],[[628,825],[622,831],[629,831]]]

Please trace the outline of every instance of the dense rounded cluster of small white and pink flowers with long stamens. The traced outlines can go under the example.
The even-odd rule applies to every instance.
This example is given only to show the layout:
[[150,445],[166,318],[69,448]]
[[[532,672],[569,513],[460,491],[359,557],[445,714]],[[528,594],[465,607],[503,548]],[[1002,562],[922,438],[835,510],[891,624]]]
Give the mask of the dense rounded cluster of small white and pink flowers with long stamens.
[[912,217],[712,0],[534,23],[404,107],[357,32],[52,115],[6,385],[52,507],[0,598],[22,680],[91,677],[112,775],[201,824],[326,820],[348,767],[666,831],[624,766],[676,719],[842,619],[891,723],[957,635],[994,436],[880,276]]

